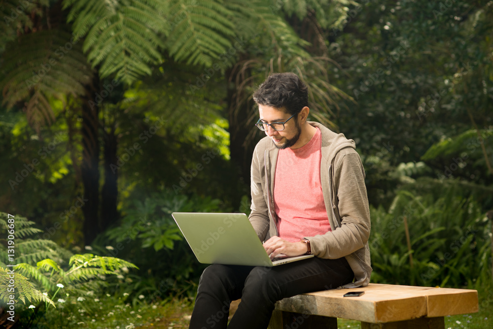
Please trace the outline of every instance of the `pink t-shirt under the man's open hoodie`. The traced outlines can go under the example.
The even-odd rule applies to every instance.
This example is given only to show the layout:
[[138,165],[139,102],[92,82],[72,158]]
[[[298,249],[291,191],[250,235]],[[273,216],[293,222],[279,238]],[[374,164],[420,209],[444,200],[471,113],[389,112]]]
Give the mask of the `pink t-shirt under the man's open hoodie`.
[[320,183],[320,130],[303,147],[279,150],[274,206],[279,237],[290,242],[330,231]]

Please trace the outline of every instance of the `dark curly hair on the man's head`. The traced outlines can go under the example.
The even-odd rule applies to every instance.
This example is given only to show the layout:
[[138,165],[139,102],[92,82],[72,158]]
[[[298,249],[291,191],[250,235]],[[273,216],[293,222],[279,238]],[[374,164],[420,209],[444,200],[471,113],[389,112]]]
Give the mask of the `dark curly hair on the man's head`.
[[308,87],[294,73],[273,73],[253,93],[253,100],[265,106],[285,106],[293,115],[308,106]]

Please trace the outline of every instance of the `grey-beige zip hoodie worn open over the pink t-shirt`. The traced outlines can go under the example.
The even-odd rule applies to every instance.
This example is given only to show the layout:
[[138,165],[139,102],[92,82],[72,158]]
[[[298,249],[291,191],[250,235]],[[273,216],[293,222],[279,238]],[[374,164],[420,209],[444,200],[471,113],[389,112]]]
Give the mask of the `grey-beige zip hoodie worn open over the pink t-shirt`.
[[[331,231],[305,236],[316,257],[345,257],[355,281],[345,288],[366,286],[370,282],[370,210],[365,187],[365,172],[355,143],[317,122],[322,137],[320,181]],[[274,176],[279,149],[270,137],[255,146],[251,163],[251,213],[249,216],[261,241],[278,235],[274,208]],[[293,196],[295,197],[295,196]],[[300,236],[301,238],[301,236]]]

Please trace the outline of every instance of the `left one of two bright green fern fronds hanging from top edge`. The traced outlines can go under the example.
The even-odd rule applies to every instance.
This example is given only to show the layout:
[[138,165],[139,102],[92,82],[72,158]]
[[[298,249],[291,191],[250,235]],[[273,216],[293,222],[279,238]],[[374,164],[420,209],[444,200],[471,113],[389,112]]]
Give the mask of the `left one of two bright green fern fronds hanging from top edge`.
[[150,64],[161,61],[161,34],[167,34],[167,1],[65,0],[73,31],[85,36],[83,50],[101,77],[114,76],[127,83],[151,73]]

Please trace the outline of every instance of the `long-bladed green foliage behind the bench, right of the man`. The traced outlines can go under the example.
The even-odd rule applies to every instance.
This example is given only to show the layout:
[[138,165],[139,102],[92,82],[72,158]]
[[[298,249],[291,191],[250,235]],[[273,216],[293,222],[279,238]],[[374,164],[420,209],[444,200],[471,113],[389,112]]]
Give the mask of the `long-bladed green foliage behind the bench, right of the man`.
[[419,195],[404,187],[388,210],[371,208],[373,282],[474,289],[491,284],[491,222],[457,183],[450,185],[439,194]]

